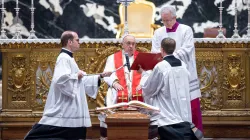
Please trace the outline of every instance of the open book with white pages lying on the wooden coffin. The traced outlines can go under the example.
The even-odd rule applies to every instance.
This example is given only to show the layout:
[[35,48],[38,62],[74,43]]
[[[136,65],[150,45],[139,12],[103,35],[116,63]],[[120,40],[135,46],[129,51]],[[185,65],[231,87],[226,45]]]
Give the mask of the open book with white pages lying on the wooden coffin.
[[97,107],[96,111],[102,111],[102,110],[107,110],[107,109],[116,109],[119,107],[134,107],[134,108],[139,108],[139,109],[147,109],[147,110],[153,110],[153,111],[158,111],[160,112],[160,109],[154,106],[151,106],[149,104],[140,102],[140,101],[130,101],[128,103],[122,102],[122,103],[117,103],[112,106],[107,106],[107,107]]

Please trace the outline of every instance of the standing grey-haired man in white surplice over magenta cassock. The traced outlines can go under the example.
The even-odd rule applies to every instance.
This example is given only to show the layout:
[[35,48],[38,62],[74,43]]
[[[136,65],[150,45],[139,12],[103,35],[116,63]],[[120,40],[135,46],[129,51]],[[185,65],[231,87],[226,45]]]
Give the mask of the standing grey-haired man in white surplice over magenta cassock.
[[176,41],[176,50],[173,53],[176,58],[181,59],[187,64],[188,71],[191,74],[189,80],[192,120],[198,129],[203,131],[202,118],[200,110],[201,97],[200,84],[197,76],[195,61],[195,46],[193,41],[192,29],[176,21],[176,10],[172,6],[163,7],[160,11],[163,27],[157,29],[152,38],[152,53],[159,53],[161,41],[170,37]]

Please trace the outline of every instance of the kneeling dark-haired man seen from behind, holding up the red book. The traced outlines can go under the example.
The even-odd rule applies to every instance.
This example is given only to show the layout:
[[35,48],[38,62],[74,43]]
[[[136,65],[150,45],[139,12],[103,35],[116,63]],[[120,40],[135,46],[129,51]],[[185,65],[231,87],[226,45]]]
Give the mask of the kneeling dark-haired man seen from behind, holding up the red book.
[[153,71],[142,72],[143,97],[147,104],[158,107],[160,113],[150,118],[151,125],[158,126],[161,140],[194,140],[189,94],[190,73],[186,64],[175,58],[175,41],[162,40],[163,60]]

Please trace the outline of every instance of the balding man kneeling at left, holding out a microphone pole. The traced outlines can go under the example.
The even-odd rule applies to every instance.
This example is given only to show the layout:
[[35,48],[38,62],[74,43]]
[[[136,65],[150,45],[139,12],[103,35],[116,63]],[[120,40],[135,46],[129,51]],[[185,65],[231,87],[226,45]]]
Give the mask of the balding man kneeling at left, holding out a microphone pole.
[[91,127],[86,94],[96,98],[100,78],[111,72],[87,76],[78,68],[73,57],[79,49],[77,33],[65,31],[61,44],[43,116],[24,139],[86,139],[86,128]]

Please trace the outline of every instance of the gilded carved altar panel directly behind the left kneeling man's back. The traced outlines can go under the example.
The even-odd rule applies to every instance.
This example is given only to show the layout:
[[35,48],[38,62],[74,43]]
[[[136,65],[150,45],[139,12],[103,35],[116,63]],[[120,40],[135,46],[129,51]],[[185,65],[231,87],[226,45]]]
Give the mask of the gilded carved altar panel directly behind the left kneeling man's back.
[[54,52],[32,52],[31,75],[35,79],[32,84],[31,106],[35,110],[42,110],[49,92],[54,66],[59,50]]

